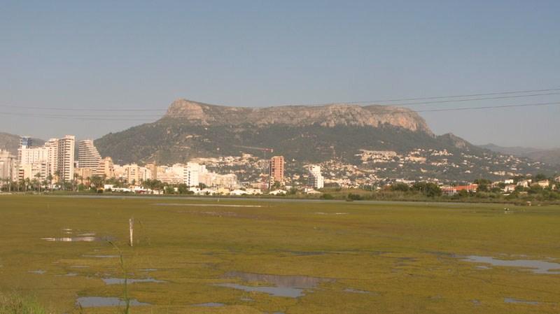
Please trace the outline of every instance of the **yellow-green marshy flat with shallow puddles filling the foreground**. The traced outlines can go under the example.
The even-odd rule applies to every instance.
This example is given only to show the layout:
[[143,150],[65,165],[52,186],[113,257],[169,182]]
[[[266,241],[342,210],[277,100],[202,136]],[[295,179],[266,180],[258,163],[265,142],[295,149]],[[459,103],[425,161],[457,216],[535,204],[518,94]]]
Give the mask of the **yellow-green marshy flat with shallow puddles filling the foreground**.
[[11,295],[45,313],[560,313],[560,206],[1,195]]

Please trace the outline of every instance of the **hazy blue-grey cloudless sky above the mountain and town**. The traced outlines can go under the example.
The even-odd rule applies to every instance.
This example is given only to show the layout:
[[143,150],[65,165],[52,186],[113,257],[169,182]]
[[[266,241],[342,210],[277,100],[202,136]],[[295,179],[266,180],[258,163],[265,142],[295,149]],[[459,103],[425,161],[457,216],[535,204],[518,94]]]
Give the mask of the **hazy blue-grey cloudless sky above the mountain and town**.
[[[559,13],[544,0],[1,1],[0,131],[98,138],[179,98],[263,107],[558,89]],[[559,93],[409,108],[435,134],[553,148],[558,104],[426,110]]]

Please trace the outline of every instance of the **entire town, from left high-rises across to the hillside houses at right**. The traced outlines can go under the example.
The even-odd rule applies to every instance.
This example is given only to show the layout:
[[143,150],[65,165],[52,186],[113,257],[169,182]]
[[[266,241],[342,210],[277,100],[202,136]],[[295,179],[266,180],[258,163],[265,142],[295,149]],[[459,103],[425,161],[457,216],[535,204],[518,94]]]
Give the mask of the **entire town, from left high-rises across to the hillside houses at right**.
[[[519,176],[521,160],[512,156],[500,156],[498,161],[491,157],[477,157],[461,152],[455,156],[447,150],[416,149],[407,154],[390,150],[360,150],[356,155],[363,166],[344,164],[341,161],[327,161],[320,165],[304,164],[285,169],[286,161],[282,156],[260,159],[250,154],[228,157],[195,158],[190,162],[172,165],[148,164],[114,164],[111,157],[102,157],[92,140],[78,142],[67,135],[62,138],[50,138],[44,144],[33,145],[32,139],[23,136],[20,139],[18,154],[0,150],[0,185],[22,180],[35,181],[60,187],[68,183],[81,183],[101,187],[106,181],[125,183],[119,187],[108,184],[105,188],[126,191],[146,191],[150,181],[158,180],[165,185],[186,185],[190,192],[196,194],[269,194],[286,193],[290,187],[302,188],[307,193],[317,193],[325,183],[339,187],[370,186],[380,189],[392,183],[412,183],[422,180],[437,183],[445,194],[453,195],[461,191],[476,192],[477,185],[449,185],[440,182],[436,173],[450,173],[456,169],[458,176],[467,175],[477,168],[484,168],[486,173],[497,177]],[[77,151],[77,159],[75,152]],[[453,161],[451,161],[453,159]],[[486,160],[487,159],[487,160]],[[496,167],[493,172],[486,164]],[[539,164],[533,165],[538,169]],[[323,169],[328,169],[325,173]],[[398,176],[399,169],[409,167],[407,172],[418,172],[418,178],[405,180]],[[498,171],[499,169],[499,171]],[[425,173],[425,174],[424,174]],[[389,178],[393,179],[389,179]],[[100,180],[101,179],[101,180]],[[109,179],[109,180],[107,180]],[[560,180],[556,178],[556,180]],[[28,181],[28,182],[29,182]],[[111,183],[111,182],[109,182]],[[540,185],[547,187],[549,182],[542,180],[496,181],[491,188],[500,187],[503,193],[510,193],[517,186],[530,187]],[[63,187],[64,188],[64,187]]]

